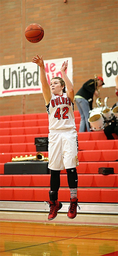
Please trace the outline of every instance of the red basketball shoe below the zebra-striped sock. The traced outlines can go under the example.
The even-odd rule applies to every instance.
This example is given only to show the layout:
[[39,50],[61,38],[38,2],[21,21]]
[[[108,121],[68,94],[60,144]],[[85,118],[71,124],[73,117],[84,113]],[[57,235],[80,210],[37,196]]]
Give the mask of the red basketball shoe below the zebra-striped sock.
[[[79,207],[78,205],[78,198],[70,198],[71,200],[71,203],[70,203],[70,206],[68,208],[68,218],[69,219],[74,219],[77,215],[77,206]],[[80,210],[80,207],[79,207],[79,210]]]

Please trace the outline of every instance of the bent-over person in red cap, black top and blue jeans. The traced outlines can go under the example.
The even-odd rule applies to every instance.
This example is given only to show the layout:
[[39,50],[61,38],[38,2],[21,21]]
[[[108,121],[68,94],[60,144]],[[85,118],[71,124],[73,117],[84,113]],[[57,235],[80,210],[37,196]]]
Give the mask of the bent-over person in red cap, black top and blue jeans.
[[88,122],[89,111],[92,110],[93,96],[99,97],[98,88],[104,85],[103,78],[89,79],[75,95],[75,101],[81,116],[79,132],[91,131]]

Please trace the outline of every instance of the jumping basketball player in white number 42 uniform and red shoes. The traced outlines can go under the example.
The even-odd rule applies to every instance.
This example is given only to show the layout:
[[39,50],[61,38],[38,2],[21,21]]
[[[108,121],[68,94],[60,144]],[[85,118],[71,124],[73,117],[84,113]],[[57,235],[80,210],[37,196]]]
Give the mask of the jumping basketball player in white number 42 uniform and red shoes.
[[[50,169],[50,200],[47,201],[50,207],[48,220],[53,220],[61,209],[62,203],[58,201],[58,190],[60,188],[60,171],[66,169],[68,186],[70,188],[71,202],[68,211],[68,218],[74,219],[77,215],[77,187],[78,175],[76,166],[78,163],[78,139],[74,118],[74,90],[73,85],[67,77],[65,70],[68,61],[61,66],[62,77],[54,77],[47,82],[45,66],[42,56],[32,58],[32,62],[40,66],[40,80],[42,93],[45,99],[49,119],[48,134],[48,168]],[[67,91],[65,92],[65,85]],[[80,207],[79,207],[80,209]]]

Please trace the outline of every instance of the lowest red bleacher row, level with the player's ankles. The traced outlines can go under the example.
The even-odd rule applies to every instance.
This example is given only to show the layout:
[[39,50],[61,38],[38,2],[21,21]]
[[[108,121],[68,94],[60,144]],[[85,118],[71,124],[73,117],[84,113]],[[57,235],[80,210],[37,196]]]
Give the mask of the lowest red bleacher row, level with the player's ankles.
[[[47,201],[49,188],[1,188],[0,198],[2,201]],[[78,188],[79,202],[89,203],[117,203],[117,189],[110,188]],[[60,188],[58,200],[61,202],[70,201],[68,188]]]

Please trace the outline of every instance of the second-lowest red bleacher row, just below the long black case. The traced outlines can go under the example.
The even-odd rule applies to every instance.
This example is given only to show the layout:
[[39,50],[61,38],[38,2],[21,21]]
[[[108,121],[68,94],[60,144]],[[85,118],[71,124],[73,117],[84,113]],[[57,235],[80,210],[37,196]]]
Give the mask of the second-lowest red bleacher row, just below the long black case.
[[[78,187],[118,186],[118,175],[78,174]],[[1,187],[50,187],[50,174],[1,175]],[[60,187],[68,187],[67,175],[60,175]]]

